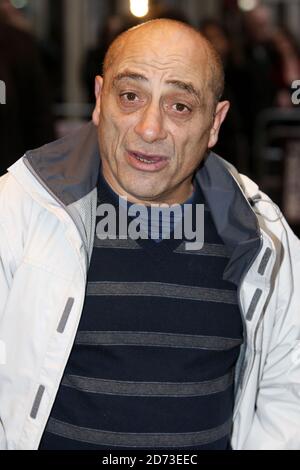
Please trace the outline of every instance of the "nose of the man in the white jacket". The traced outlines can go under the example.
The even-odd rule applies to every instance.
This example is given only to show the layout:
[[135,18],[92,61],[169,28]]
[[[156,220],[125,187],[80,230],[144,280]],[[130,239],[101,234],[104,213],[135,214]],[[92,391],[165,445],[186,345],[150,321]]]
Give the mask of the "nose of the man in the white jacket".
[[149,143],[163,140],[167,137],[167,132],[164,128],[164,117],[158,104],[152,102],[143,110],[135,126],[135,132],[145,142]]

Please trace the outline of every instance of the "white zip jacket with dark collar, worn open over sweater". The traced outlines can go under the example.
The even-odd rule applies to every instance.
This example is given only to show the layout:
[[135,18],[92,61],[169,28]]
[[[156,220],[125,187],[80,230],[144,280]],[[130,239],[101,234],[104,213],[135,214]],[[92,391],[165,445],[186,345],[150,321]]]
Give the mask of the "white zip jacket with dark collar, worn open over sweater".
[[[100,156],[92,123],[0,178],[0,448],[37,449],[76,335]],[[300,449],[300,241],[212,152],[197,172],[238,285],[233,449]]]

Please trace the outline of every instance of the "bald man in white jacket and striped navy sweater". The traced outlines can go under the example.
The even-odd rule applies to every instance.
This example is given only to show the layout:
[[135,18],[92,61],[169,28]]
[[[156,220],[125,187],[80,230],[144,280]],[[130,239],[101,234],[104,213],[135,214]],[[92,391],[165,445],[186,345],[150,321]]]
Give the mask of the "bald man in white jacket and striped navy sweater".
[[[144,23],[110,47],[93,123],[0,180],[3,448],[299,448],[300,244],[209,150],[222,88],[198,32]],[[152,226],[175,203],[201,248],[184,211]],[[121,211],[105,238],[134,206],[140,238]]]

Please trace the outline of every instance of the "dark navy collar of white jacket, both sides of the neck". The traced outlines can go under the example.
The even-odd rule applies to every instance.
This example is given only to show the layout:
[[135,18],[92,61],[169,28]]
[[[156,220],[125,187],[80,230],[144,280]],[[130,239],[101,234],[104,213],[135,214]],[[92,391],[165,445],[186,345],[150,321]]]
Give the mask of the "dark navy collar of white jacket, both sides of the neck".
[[[97,129],[90,122],[79,131],[27,152],[24,159],[44,186],[68,206],[97,185]],[[230,255],[223,278],[238,285],[260,249],[261,234],[257,217],[231,170],[234,167],[228,162],[209,152],[195,177]]]

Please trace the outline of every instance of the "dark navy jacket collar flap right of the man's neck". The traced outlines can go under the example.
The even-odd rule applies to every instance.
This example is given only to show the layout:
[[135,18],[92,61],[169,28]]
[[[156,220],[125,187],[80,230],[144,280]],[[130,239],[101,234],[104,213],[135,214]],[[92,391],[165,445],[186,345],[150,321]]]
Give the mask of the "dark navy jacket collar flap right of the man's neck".
[[223,279],[238,285],[262,246],[257,217],[238,181],[236,169],[213,152],[196,173],[217,232],[230,256]]

